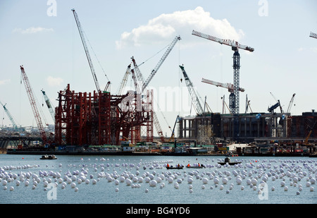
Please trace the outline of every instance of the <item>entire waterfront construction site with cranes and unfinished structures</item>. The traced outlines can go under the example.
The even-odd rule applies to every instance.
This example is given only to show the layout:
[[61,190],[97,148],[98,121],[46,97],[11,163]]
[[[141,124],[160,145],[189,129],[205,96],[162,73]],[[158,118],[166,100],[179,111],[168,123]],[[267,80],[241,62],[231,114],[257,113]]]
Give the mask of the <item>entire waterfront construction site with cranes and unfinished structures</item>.
[[[149,150],[153,152],[153,150],[160,150],[158,148],[160,146],[170,145],[169,152],[171,150],[175,152],[175,149],[181,146],[213,147],[214,150],[214,147],[217,146],[220,148],[231,144],[247,144],[254,146],[275,145],[285,148],[287,146],[295,146],[299,150],[301,147],[305,147],[310,149],[311,153],[316,151],[317,113],[312,110],[305,111],[300,116],[292,116],[290,109],[295,94],[292,95],[287,109],[282,109],[280,101],[276,100],[276,104],[268,106],[267,111],[254,112],[249,107],[248,99],[245,102],[245,110],[242,112],[242,109],[240,109],[240,92],[244,92],[244,88],[240,87],[239,50],[244,49],[254,52],[254,49],[232,40],[219,39],[195,30],[192,31],[192,35],[227,45],[232,49],[233,84],[218,83],[205,78],[201,79],[202,83],[227,89],[229,92],[229,106],[225,103],[224,96],[223,112],[211,112],[206,102],[205,104],[201,103],[201,99],[189,79],[190,73],[188,74],[185,71],[184,66],[179,66],[189,95],[192,98],[192,107],[194,107],[197,114],[195,116],[178,116],[175,123],[173,123],[173,129],[171,128],[171,135],[168,135],[168,137],[164,136],[156,111],[154,111],[153,105],[156,102],[154,102],[153,90],[149,89],[148,85],[156,72],[159,71],[168,54],[173,50],[175,44],[181,40],[181,37],[176,36],[173,39],[147,79],[144,79],[132,56],[132,64],[127,66],[118,91],[111,93],[108,90],[110,81],[108,81],[104,89],[99,86],[82,26],[77,13],[74,9],[72,11],[96,90],[76,92],[68,84],[65,90],[58,92],[58,106],[55,108],[51,106],[49,98],[42,90],[46,106],[55,121],[54,131],[48,133],[44,131],[42,119],[39,115],[25,68],[20,66],[25,90],[37,122],[38,131],[37,135],[26,135],[23,137],[21,134],[11,134],[8,131],[2,131],[0,140],[2,149],[9,145],[20,149],[31,147],[32,141],[37,140],[39,141],[38,145],[54,150],[67,146],[85,147],[87,149],[87,147],[101,145],[120,147],[149,145]],[[313,32],[311,32],[310,37],[317,39],[317,35]],[[197,40],[201,39],[197,38]],[[130,75],[132,75],[135,90],[123,93]],[[2,104],[2,106],[8,117],[12,117],[6,109],[6,105]],[[228,109],[228,113],[225,113],[225,108]],[[13,121],[13,119],[11,120]],[[13,123],[13,127],[14,125],[15,123]]]

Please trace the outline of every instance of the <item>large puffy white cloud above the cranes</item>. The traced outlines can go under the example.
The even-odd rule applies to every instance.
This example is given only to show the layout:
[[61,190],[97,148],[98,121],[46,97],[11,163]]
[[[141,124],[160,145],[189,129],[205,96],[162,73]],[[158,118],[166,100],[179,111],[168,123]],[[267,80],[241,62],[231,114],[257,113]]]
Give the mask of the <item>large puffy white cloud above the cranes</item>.
[[[194,10],[163,13],[148,21],[146,25],[134,28],[130,32],[123,32],[116,47],[122,49],[129,46],[138,47],[142,44],[166,43],[176,35],[191,35],[192,30],[204,32],[226,40],[240,40],[244,33],[235,30],[227,19],[217,20],[209,12],[198,6]],[[193,39],[192,39],[193,38]],[[187,45],[198,43],[194,37],[188,37]],[[204,41],[204,40],[202,40]]]

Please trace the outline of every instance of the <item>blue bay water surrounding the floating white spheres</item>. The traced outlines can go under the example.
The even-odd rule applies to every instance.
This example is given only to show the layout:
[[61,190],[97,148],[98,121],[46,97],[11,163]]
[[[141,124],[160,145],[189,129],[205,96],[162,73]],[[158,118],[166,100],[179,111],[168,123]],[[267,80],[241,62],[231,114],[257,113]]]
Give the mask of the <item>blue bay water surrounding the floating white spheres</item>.
[[[62,184],[58,183],[57,178],[53,176],[43,176],[51,183],[44,187],[43,178],[39,176],[40,180],[35,189],[32,189],[32,176],[30,178],[30,185],[25,186],[24,181],[20,186],[16,186],[15,182],[20,181],[20,178],[9,181],[6,185],[0,182],[0,202],[3,204],[316,204],[316,183],[306,187],[307,180],[316,178],[317,175],[317,159],[309,157],[231,157],[231,161],[240,161],[242,164],[235,166],[221,166],[217,167],[217,162],[224,159],[224,157],[157,157],[157,156],[58,156],[55,160],[41,160],[38,155],[0,155],[0,174],[5,169],[6,173],[11,172],[19,176],[21,173],[30,172],[39,176],[40,172],[46,171],[49,174],[52,172],[59,172],[63,178],[67,172],[71,175],[76,171],[87,171],[86,177],[89,178],[89,184],[85,181],[76,184],[75,188],[71,188],[70,183],[67,183],[66,188],[62,188]],[[173,169],[167,170],[163,167],[164,164],[170,165],[183,164],[187,165],[194,163],[206,164],[204,169]],[[61,166],[60,166],[61,164]],[[132,166],[134,164],[134,166]],[[139,165],[139,169],[137,166]],[[25,167],[28,166],[28,167]],[[143,169],[147,166],[147,169]],[[153,169],[151,168],[154,167]],[[11,167],[11,169],[10,169]],[[20,169],[18,169],[20,167]],[[104,167],[104,171],[102,171]],[[97,171],[95,171],[95,168]],[[280,172],[284,171],[284,176]],[[124,174],[133,174],[136,176],[137,171],[142,177],[142,174],[148,172],[148,175],[154,175],[154,179],[162,173],[173,174],[177,176],[173,183],[168,183],[167,176],[156,186],[152,187],[145,181],[142,183],[133,183],[139,185],[139,188],[132,188],[126,182],[116,185],[115,181],[109,182],[107,178],[98,178],[98,174],[117,174],[122,176]],[[287,171],[290,171],[290,176],[287,176]],[[228,176],[230,172],[230,176]],[[242,183],[239,185],[236,182],[234,173],[242,173],[246,178],[242,178]],[[252,174],[249,176],[249,172]],[[273,181],[273,175],[268,176],[269,173],[280,176]],[[261,174],[262,173],[262,174]],[[189,174],[193,174],[192,183],[188,183]],[[196,175],[197,174],[197,177]],[[213,178],[209,176],[215,174],[218,176],[218,186],[213,182]],[[260,185],[263,176],[267,174],[267,181],[264,186]],[[166,174],[167,175],[167,174]],[[293,183],[293,177],[302,178],[297,183]],[[305,175],[305,176],[303,176]],[[4,176],[4,174],[3,174]],[[80,175],[77,175],[79,178]],[[260,176],[258,178],[257,176]],[[0,176],[1,177],[1,176]],[[70,176],[69,176],[70,177]],[[228,178],[228,183],[223,184],[222,178]],[[247,179],[257,179],[256,189],[247,185]],[[202,178],[209,178],[208,183],[204,184]],[[97,183],[93,184],[93,179]],[[119,180],[119,178],[117,178]],[[181,180],[179,188],[175,188],[175,181]],[[131,179],[132,180],[132,179]],[[58,184],[53,186],[54,181]],[[285,191],[285,186],[281,186],[281,182],[285,182],[288,190]],[[65,181],[66,182],[66,181]],[[160,188],[162,183],[165,183],[163,188]],[[233,184],[232,188],[230,185]],[[192,193],[190,193],[189,185],[192,186]],[[202,186],[205,186],[203,189]],[[302,185],[302,190],[299,187]],[[10,187],[14,190],[10,190]],[[223,186],[221,190],[220,186]],[[244,190],[241,187],[244,186]],[[275,190],[271,190],[272,187]],[[261,193],[259,193],[262,187]],[[313,187],[313,191],[311,191]],[[5,188],[7,188],[5,190]],[[118,192],[116,192],[118,188]],[[146,192],[148,190],[148,192]],[[229,193],[227,193],[227,190]],[[297,194],[299,192],[299,195]]]

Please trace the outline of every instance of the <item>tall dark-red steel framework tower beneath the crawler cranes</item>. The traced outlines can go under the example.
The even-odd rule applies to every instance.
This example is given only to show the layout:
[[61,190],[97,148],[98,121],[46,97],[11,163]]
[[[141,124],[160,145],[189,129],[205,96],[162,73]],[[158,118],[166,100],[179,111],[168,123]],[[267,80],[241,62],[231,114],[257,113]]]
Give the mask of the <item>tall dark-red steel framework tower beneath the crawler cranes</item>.
[[56,144],[120,145],[120,140],[127,139],[137,143],[141,140],[139,126],[147,127],[147,141],[153,141],[153,93],[148,91],[147,95],[147,102],[142,102],[135,92],[75,93],[68,85],[58,93]]

